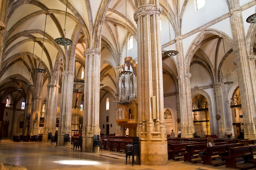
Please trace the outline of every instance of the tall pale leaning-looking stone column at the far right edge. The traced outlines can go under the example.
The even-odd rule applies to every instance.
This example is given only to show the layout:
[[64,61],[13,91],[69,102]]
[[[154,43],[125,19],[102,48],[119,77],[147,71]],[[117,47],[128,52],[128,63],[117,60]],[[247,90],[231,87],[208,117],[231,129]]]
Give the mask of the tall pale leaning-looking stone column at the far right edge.
[[[239,3],[235,3],[238,6]],[[240,88],[241,104],[244,119],[244,135],[247,139],[256,139],[255,128],[255,104],[252,91],[253,83],[250,78],[250,69],[247,58],[246,38],[243,24],[243,16],[240,7],[234,7],[229,11],[231,30],[234,41],[234,54],[236,59],[238,83]]]

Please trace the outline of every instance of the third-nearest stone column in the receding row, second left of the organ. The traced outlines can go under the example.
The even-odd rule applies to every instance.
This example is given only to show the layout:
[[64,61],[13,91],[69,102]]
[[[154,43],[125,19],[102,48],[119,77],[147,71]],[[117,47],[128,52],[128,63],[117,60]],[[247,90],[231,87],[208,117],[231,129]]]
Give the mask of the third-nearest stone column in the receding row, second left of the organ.
[[71,114],[72,114],[74,72],[63,71],[61,72],[61,75],[62,75],[62,88],[61,88],[60,121],[59,121],[59,127],[58,127],[58,141],[57,141],[58,146],[63,146],[64,135],[66,133],[69,134],[71,138],[71,118],[72,118]]

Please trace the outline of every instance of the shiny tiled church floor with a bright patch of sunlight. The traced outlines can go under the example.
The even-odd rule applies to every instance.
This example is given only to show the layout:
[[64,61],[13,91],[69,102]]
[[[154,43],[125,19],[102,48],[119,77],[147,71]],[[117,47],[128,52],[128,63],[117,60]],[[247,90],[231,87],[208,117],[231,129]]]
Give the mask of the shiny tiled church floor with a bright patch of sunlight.
[[236,170],[224,166],[213,167],[202,163],[169,160],[166,166],[126,165],[124,153],[103,150],[101,153],[74,151],[70,147],[50,143],[13,142],[3,139],[0,163],[24,166],[28,170]]

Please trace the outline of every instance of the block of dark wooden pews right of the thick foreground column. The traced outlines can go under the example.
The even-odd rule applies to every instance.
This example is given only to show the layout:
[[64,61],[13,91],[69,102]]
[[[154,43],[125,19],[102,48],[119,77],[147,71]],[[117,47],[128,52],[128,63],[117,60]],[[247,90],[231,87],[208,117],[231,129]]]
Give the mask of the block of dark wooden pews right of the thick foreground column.
[[[198,155],[205,149],[202,156],[203,164],[212,166],[248,169],[256,168],[256,140],[249,139],[213,139],[215,146],[206,147],[206,138],[168,139],[168,159],[201,162]],[[198,158],[198,159],[196,159]],[[243,161],[243,163],[238,163]]]

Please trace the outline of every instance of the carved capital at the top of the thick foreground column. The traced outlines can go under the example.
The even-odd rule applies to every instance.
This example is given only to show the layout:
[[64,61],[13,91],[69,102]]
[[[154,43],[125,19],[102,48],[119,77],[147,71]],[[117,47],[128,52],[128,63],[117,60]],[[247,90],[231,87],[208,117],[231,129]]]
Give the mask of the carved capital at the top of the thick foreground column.
[[159,5],[154,5],[154,4],[142,5],[142,6],[138,7],[137,9],[135,9],[133,18],[137,22],[137,19],[140,16],[153,15],[153,14],[160,15],[162,13],[162,11],[163,11],[163,9]]

